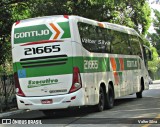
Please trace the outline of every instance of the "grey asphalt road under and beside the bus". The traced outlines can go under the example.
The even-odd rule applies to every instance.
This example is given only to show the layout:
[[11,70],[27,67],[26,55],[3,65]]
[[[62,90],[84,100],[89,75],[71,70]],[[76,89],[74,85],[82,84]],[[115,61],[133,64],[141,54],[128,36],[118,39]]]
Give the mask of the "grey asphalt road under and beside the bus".
[[[160,127],[160,81],[150,85],[150,89],[144,91],[142,99],[137,99],[136,95],[129,95],[115,100],[114,108],[103,112],[95,112],[93,108],[88,107],[59,111],[52,118],[46,117],[40,111],[27,111],[7,117],[9,118],[38,119],[42,122],[38,127]],[[157,122],[159,124],[156,124]],[[0,125],[7,126],[9,125]]]

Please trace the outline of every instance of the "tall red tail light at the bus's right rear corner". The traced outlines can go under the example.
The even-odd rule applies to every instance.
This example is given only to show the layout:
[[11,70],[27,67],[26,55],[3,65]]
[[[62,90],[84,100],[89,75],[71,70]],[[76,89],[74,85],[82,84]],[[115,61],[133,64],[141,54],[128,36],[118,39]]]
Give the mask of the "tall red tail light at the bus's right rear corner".
[[73,81],[69,93],[75,92],[82,87],[81,76],[78,67],[73,68]]

